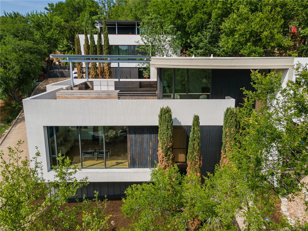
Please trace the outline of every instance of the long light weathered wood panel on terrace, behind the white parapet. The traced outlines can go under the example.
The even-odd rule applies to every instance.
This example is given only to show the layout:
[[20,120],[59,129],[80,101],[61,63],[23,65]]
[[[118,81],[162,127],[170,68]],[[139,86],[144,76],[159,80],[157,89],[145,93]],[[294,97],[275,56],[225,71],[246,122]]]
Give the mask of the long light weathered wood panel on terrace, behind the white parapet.
[[87,91],[62,90],[58,91],[57,99],[118,99],[119,91]]

